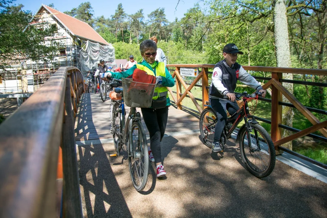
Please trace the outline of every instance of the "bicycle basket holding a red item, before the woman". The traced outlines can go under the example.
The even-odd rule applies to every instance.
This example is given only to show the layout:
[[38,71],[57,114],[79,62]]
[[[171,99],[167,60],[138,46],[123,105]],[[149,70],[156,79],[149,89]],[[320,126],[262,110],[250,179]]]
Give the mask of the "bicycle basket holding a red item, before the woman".
[[149,108],[156,84],[134,82],[132,79],[122,78],[124,102],[128,107]]

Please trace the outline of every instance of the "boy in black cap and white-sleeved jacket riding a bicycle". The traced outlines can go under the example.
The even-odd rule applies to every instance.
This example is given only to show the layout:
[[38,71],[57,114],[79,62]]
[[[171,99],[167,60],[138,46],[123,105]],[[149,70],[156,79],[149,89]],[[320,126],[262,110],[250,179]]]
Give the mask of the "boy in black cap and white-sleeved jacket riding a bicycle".
[[[239,51],[234,43],[225,45],[223,49],[225,59],[216,63],[212,74],[212,83],[209,88],[209,102],[218,118],[212,145],[212,151],[214,152],[222,152],[220,136],[227,120],[226,109],[231,115],[239,109],[234,93],[237,80],[261,92],[262,97],[265,97],[267,93],[266,90],[262,89],[260,83],[236,62],[238,54],[242,55],[243,52]],[[227,96],[229,100],[223,99],[224,96]]]

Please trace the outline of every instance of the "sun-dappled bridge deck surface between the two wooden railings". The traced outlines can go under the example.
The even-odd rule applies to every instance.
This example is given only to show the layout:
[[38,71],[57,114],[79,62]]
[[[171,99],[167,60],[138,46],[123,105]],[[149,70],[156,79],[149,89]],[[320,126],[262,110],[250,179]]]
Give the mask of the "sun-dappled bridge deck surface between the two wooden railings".
[[152,164],[138,193],[126,153],[109,158],[113,144],[93,140],[112,137],[105,121],[109,101],[84,94],[80,104],[75,128],[85,217],[327,217],[326,183],[279,160],[270,176],[258,179],[245,169],[233,140],[221,155],[203,145],[198,133],[174,133],[198,129],[198,119],[173,107],[162,141],[167,177],[157,179]]

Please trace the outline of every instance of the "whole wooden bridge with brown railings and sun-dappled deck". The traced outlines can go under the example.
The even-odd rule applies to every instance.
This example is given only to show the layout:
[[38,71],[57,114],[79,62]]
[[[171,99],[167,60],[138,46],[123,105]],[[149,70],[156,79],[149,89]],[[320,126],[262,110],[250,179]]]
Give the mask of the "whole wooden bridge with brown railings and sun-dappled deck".
[[[269,80],[265,88],[271,86],[272,98],[262,100],[272,103],[276,152],[286,152],[269,177],[258,179],[245,170],[233,139],[224,156],[211,153],[199,140],[197,116],[208,101],[214,65],[170,66],[176,68],[176,92],[169,90],[175,104],[162,144],[166,180],[157,180],[150,168],[144,192],[133,189],[124,154],[108,159],[114,152],[109,101],[84,93],[78,69],[63,67],[0,126],[0,217],[58,217],[60,211],[63,217],[327,216],[327,180],[322,182],[327,166],[281,146],[308,134],[327,141],[327,121],[319,122],[310,112],[324,111],[304,107],[281,84],[290,82],[282,73],[327,75],[326,70],[244,66],[272,74],[258,79]],[[181,67],[200,70],[191,84],[183,81]],[[191,92],[196,86],[202,88],[202,99]],[[282,94],[291,104],[282,102]],[[197,110],[185,109],[185,97]],[[299,109],[313,126],[297,130],[281,125],[282,105]],[[281,128],[296,133],[282,139]],[[324,137],[312,134],[318,129]]]

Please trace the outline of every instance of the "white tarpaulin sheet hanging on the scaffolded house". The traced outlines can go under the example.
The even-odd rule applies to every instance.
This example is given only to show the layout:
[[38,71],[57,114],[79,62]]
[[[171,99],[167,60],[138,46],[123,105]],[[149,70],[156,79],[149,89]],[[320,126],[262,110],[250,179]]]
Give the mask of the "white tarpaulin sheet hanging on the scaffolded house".
[[81,66],[81,72],[85,73],[92,68],[98,68],[97,62],[100,59],[104,59],[107,66],[116,65],[115,48],[110,43],[109,45],[100,45],[99,43],[87,41],[79,51],[78,62]]

